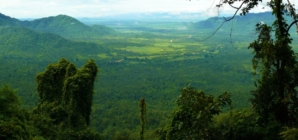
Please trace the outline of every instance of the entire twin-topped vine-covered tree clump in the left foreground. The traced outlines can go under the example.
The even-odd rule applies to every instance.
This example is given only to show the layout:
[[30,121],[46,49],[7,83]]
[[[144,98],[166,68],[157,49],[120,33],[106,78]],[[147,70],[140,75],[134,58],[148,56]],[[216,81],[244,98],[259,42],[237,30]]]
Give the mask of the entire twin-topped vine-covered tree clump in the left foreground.
[[81,69],[66,59],[36,76],[39,103],[31,119],[48,139],[100,139],[91,131],[91,106],[98,68],[89,60]]

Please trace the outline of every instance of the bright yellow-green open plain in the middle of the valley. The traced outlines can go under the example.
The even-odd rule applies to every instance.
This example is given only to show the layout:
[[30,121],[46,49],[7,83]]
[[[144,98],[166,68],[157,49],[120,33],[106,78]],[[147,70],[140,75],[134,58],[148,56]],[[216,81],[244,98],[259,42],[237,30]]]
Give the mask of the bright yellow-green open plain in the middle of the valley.
[[[118,26],[118,25],[117,25]],[[143,23],[138,22],[135,26],[121,25],[120,35],[104,36],[92,42],[109,48],[110,53],[100,53],[99,59],[155,59],[164,58],[168,61],[185,59],[202,59],[216,57],[218,54],[229,53],[234,49],[247,48],[248,42],[230,40],[226,33],[216,34],[207,41],[200,41],[212,34],[210,29],[190,30],[178,29],[185,26],[183,23]],[[111,26],[113,27],[113,26]],[[137,28],[138,27],[138,28]],[[142,28],[141,28],[142,27]],[[141,31],[143,33],[126,33],[126,31]],[[151,30],[152,29],[152,30]],[[169,32],[164,32],[165,29]],[[147,32],[148,30],[152,32]]]

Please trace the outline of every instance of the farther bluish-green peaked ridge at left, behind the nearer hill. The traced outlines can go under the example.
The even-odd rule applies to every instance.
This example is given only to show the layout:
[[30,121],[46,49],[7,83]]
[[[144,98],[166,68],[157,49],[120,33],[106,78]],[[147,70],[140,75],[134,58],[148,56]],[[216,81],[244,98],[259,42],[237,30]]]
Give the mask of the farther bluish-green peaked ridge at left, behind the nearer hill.
[[93,38],[115,33],[109,27],[102,25],[88,26],[66,15],[41,18],[33,21],[20,21],[0,14],[0,26],[23,26],[38,32],[54,33],[68,39]]

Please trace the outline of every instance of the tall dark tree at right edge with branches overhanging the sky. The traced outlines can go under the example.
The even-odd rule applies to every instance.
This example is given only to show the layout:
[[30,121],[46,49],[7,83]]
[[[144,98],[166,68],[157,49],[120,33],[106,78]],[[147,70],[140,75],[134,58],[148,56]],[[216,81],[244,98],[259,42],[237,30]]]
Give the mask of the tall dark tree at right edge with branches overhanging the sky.
[[[239,7],[233,6],[236,2],[240,2]],[[236,9],[235,15],[239,10],[242,10],[241,15],[245,15],[260,2],[262,0],[222,0],[217,6],[228,4]],[[258,39],[249,45],[254,52],[253,68],[256,74],[261,75],[255,83],[256,90],[252,91],[251,101],[261,122],[266,124],[273,119],[292,126],[297,123],[298,113],[298,68],[296,56],[290,47],[292,39],[289,34],[289,29],[297,22],[295,9],[289,0],[270,0],[267,5],[272,9],[276,20],[272,26],[257,24]],[[286,23],[285,16],[293,17],[290,26]]]

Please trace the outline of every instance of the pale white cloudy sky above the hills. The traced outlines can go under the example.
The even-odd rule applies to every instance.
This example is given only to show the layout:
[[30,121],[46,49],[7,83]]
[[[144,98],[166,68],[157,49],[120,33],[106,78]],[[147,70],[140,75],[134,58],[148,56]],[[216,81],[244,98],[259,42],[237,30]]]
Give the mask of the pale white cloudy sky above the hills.
[[[225,5],[215,7],[221,0],[0,0],[0,13],[14,18],[42,18],[59,14],[72,17],[108,17],[127,13],[167,12],[173,15],[200,13],[207,18],[218,13],[233,14],[235,9]],[[263,0],[266,2],[266,0]],[[298,6],[298,0],[290,0]],[[265,2],[251,12],[270,9]],[[236,6],[239,4],[235,4]],[[263,8],[264,7],[264,8]]]

